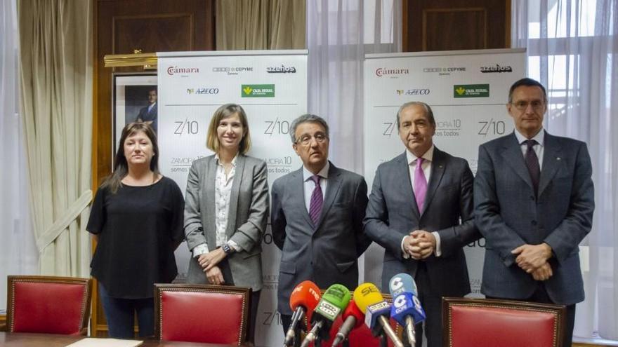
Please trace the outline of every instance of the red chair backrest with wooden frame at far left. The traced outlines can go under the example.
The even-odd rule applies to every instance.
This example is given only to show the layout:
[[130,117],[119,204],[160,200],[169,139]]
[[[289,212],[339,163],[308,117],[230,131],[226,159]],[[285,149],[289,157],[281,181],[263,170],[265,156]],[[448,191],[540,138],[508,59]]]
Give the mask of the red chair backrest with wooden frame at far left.
[[85,334],[92,280],[55,276],[8,276],[9,332]]

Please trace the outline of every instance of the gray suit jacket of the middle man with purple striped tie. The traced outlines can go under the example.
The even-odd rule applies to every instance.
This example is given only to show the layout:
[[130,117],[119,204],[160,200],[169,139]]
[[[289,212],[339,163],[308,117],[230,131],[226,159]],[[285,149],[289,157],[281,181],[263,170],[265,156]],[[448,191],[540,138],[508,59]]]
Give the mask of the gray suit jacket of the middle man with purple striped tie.
[[364,178],[330,163],[322,215],[317,226],[305,207],[303,168],[272,184],[272,238],[282,250],[277,308],[291,315],[289,296],[303,280],[326,289],[334,283],[354,290],[358,285],[357,258],[371,240],[362,233],[367,207]]

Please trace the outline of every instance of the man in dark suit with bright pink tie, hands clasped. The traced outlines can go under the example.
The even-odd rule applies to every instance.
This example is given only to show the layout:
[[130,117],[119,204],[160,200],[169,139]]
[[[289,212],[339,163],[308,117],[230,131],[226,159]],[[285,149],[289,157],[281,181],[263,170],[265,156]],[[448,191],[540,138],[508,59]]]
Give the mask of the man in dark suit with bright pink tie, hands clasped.
[[[382,291],[393,275],[412,275],[427,314],[428,346],[441,346],[442,297],[470,292],[462,247],[480,238],[473,224],[473,176],[468,162],[433,145],[428,104],[403,104],[397,128],[406,151],[376,170],[364,232],[385,249]],[[417,325],[416,346],[422,336]]]

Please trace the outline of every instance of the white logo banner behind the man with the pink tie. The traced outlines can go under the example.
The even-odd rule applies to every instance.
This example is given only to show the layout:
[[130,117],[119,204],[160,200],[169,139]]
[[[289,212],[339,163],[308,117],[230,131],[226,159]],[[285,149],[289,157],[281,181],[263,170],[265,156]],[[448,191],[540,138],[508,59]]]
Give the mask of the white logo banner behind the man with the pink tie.
[[[364,62],[364,176],[402,154],[396,114],[405,102],[433,109],[436,147],[465,158],[476,174],[480,144],[513,131],[508,89],[525,76],[525,49],[367,55]],[[406,180],[407,177],[402,177]],[[405,182],[402,181],[402,184]],[[485,240],[466,247],[472,296],[480,296]],[[380,283],[382,250],[366,254],[366,280]],[[384,289],[383,289],[384,291]]]

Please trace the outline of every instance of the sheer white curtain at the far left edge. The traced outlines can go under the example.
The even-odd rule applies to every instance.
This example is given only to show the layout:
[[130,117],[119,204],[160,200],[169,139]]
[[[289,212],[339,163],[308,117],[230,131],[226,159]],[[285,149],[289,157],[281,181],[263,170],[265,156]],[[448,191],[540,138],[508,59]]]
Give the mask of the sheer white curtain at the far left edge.
[[0,1],[0,314],[6,276],[37,273],[28,206],[25,142],[19,114],[19,38],[15,0]]

